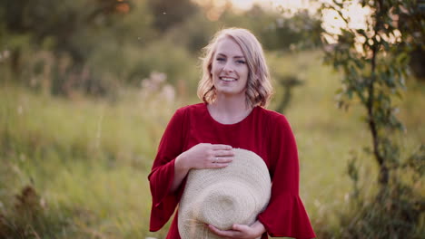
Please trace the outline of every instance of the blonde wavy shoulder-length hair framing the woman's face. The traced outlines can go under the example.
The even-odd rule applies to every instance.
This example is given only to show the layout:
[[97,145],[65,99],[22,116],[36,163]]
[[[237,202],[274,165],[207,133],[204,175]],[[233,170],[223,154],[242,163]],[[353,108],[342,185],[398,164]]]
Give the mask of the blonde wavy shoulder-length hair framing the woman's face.
[[215,33],[211,42],[203,48],[203,78],[199,81],[198,97],[207,103],[212,103],[217,93],[213,85],[211,73],[213,57],[217,43],[224,37],[230,37],[241,46],[243,56],[248,65],[249,74],[246,85],[246,104],[250,107],[260,105],[266,107],[272,96],[270,72],[267,67],[262,44],[248,30],[242,28],[227,28]]

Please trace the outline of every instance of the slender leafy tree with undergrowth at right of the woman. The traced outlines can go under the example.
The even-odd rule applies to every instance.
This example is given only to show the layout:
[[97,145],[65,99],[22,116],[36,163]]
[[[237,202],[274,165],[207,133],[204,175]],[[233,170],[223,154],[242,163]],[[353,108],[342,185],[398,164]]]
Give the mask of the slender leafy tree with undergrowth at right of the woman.
[[[425,148],[420,147],[408,159],[401,156],[395,136],[404,127],[395,115],[398,109],[393,102],[405,89],[411,43],[423,42],[424,35],[422,28],[405,27],[394,19],[401,13],[416,14],[419,5],[414,0],[365,0],[359,4],[371,11],[364,28],[350,27],[351,19],[344,9],[353,5],[352,1],[335,0],[322,8],[322,12],[336,12],[346,24],[340,33],[328,33],[328,39],[335,43],[328,45],[325,61],[343,73],[339,106],[348,109],[352,100],[358,100],[366,110],[372,144],[365,150],[379,167],[379,190],[371,201],[359,188],[354,190],[361,206],[341,217],[347,230],[343,237],[415,238],[419,236],[415,227],[423,220],[420,212],[425,199],[413,189],[411,180],[405,180],[405,175],[423,176]],[[423,19],[416,19],[414,25],[425,24]],[[360,176],[352,164],[349,168],[356,182]],[[373,230],[376,226],[385,228],[385,233],[377,234]]]

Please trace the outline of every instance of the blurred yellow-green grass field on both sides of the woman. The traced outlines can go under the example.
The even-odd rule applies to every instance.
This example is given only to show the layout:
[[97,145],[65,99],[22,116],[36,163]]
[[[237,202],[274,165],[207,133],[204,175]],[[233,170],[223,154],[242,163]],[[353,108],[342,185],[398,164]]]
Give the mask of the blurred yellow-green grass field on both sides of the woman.
[[[350,200],[346,166],[353,154],[361,158],[365,190],[375,182],[374,162],[362,151],[371,144],[364,110],[337,109],[339,76],[322,66],[320,53],[269,59],[273,72],[303,81],[284,112],[299,147],[301,198],[316,231],[340,230],[337,212]],[[196,100],[146,98],[141,91],[123,88],[116,100],[70,100],[1,86],[0,219],[16,238],[164,238],[166,228],[148,232],[147,175],[173,111]],[[425,143],[425,85],[409,81],[398,104],[407,132],[397,139],[407,155]],[[25,186],[35,189],[34,198],[22,199]]]

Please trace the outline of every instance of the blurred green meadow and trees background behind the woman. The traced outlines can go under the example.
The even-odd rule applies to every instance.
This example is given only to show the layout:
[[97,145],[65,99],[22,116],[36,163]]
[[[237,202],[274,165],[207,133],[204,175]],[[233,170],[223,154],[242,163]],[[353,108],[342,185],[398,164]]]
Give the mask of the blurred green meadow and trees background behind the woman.
[[[392,227],[368,225],[364,237],[352,230],[375,215],[356,210],[370,208],[380,167],[367,149],[367,112],[356,98],[339,109],[345,75],[326,56],[340,51],[344,25],[366,29],[374,8],[369,1],[339,1],[349,2],[341,8],[351,19],[344,24],[321,8],[330,2],[2,0],[0,237],[164,238],[168,225],[148,231],[147,176],[173,112],[200,102],[203,46],[232,26],[251,30],[265,50],[275,91],[269,109],[292,124],[301,198],[318,238],[400,238],[388,229],[400,226],[410,238],[423,236],[423,1],[395,1],[405,6],[391,18],[412,30],[392,42],[409,50],[403,50],[399,96],[391,101],[404,128],[391,135],[400,158],[419,152],[420,176],[401,176],[417,197],[400,220],[389,221]],[[402,26],[394,27],[404,33]],[[383,58],[397,54],[385,51]],[[381,209],[373,211],[378,222]]]

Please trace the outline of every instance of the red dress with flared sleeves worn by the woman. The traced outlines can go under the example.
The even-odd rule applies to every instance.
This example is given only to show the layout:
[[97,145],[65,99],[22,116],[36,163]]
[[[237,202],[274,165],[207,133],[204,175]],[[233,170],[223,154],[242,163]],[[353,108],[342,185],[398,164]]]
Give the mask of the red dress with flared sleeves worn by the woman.
[[[150,231],[156,232],[167,223],[183,194],[185,180],[175,193],[170,193],[174,159],[199,143],[212,143],[251,150],[265,161],[272,177],[272,197],[258,220],[267,234],[314,238],[299,196],[298,152],[287,119],[257,106],[241,122],[224,125],[211,117],[206,106],[199,103],[177,110],[165,129],[148,177],[153,197]],[[167,239],[180,239],[177,217],[174,215]],[[262,239],[268,238],[267,234],[262,234]]]

